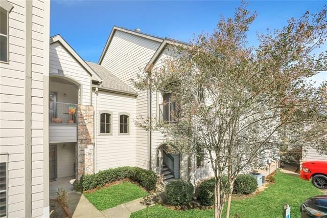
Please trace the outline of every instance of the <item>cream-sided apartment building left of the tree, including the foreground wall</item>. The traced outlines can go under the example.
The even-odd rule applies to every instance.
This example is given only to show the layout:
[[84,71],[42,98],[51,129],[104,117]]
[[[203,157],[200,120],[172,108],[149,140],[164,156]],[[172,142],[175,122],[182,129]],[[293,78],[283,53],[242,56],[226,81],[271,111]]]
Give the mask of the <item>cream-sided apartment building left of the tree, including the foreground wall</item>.
[[[99,63],[83,60],[60,35],[49,39],[49,2],[0,1],[0,217],[49,216],[56,180],[72,181],[119,166],[138,166],[164,180],[197,183],[208,163],[166,152],[167,138],[137,127],[165,117],[169,97],[135,89],[132,79],[174,58],[172,39],[113,27]],[[4,18],[8,17],[8,22]],[[174,104],[174,102],[169,102]],[[170,119],[170,118],[169,118]],[[3,188],[4,187],[4,188]],[[59,188],[59,187],[58,187]]]

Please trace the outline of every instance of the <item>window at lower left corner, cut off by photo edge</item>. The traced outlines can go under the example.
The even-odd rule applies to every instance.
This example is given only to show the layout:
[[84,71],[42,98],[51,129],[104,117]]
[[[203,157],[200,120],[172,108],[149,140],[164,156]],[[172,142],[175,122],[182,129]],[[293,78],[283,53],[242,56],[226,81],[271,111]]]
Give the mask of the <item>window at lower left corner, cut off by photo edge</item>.
[[0,217],[8,216],[8,154],[0,154]]

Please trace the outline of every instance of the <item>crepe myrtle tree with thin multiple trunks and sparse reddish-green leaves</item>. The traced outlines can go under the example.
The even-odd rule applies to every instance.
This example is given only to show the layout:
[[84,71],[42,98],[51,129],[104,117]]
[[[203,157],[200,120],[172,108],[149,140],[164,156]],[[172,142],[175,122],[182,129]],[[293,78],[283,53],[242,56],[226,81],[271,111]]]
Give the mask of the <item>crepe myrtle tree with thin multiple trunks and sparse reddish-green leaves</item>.
[[178,152],[197,156],[198,147],[205,149],[216,181],[215,217],[222,217],[226,202],[229,217],[235,179],[255,168],[258,157],[275,154],[279,130],[326,122],[326,84],[306,83],[326,70],[326,52],[313,53],[327,38],[326,9],[259,35],[253,48],[246,33],[255,17],[242,3],[232,18],[220,19],[213,33],[171,48],[178,55],[134,80],[138,89],[171,93],[178,103],[178,110],[170,112],[177,123],[166,124],[155,115],[135,123],[169,135],[170,149]]

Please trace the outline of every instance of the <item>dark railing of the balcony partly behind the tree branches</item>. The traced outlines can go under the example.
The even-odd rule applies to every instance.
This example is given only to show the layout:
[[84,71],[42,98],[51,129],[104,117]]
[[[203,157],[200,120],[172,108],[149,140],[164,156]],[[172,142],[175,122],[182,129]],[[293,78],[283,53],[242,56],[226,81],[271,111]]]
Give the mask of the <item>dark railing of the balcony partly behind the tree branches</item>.
[[179,104],[167,102],[159,104],[159,120],[165,123],[178,122]]

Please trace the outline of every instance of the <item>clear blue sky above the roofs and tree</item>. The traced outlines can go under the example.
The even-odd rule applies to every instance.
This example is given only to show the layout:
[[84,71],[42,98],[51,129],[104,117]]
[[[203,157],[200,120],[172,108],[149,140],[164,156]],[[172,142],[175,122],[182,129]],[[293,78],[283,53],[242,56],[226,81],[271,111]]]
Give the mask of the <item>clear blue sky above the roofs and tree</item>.
[[[249,44],[256,33],[282,28],[290,17],[307,10],[317,12],[327,1],[248,1],[258,17],[251,25]],[[51,2],[51,35],[60,34],[85,60],[98,62],[113,25],[161,37],[189,41],[193,35],[212,32],[220,15],[230,17],[240,1],[84,1]],[[327,50],[327,46],[326,49]],[[327,80],[327,73],[314,80]]]

